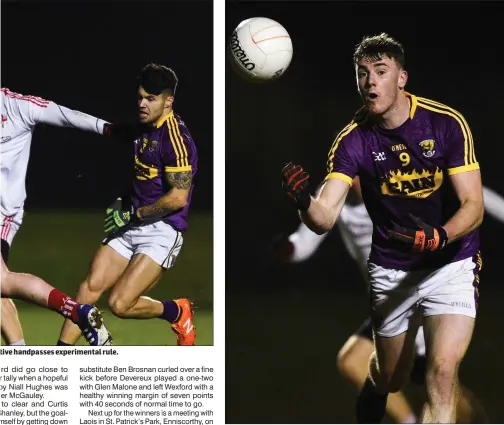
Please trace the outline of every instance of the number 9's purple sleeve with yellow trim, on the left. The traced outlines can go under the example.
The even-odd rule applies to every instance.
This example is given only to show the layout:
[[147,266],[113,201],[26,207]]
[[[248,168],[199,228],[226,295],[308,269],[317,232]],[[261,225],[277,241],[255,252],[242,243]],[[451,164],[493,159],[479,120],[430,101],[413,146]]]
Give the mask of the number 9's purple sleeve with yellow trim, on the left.
[[347,125],[336,137],[327,161],[328,179],[341,179],[352,185],[362,158],[362,144],[356,123]]

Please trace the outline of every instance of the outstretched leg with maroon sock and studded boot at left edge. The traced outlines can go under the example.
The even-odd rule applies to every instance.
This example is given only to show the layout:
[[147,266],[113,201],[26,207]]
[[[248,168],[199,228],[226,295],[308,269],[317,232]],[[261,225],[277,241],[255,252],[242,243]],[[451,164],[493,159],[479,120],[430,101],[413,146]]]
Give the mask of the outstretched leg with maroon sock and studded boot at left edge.
[[3,259],[0,276],[2,298],[28,301],[56,311],[72,320],[91,345],[105,345],[109,339],[108,331],[96,307],[77,303],[37,276],[9,271]]

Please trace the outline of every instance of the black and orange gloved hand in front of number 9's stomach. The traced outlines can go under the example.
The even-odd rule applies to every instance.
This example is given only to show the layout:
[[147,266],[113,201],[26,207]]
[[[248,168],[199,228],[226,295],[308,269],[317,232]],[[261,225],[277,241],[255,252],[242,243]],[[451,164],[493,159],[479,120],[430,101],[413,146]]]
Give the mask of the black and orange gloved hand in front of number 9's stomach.
[[436,251],[446,246],[448,235],[445,229],[432,227],[413,214],[410,217],[419,229],[407,229],[394,224],[392,230],[388,231],[390,240],[402,242],[415,251]]

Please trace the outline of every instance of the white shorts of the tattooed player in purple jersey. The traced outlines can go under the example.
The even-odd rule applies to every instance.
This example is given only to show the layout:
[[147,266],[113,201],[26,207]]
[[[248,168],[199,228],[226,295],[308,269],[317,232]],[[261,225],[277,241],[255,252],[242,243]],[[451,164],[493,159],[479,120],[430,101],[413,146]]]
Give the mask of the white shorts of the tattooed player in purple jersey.
[[132,226],[125,232],[105,238],[103,243],[128,260],[136,254],[145,254],[161,267],[169,269],[175,263],[183,241],[182,232],[163,221],[157,221]]

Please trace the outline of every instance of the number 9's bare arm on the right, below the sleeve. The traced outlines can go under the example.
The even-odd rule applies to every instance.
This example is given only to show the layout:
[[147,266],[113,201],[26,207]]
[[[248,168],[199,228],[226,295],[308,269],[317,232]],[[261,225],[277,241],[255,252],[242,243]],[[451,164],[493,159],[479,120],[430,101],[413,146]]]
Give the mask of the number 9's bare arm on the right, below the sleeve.
[[460,200],[460,208],[443,226],[448,235],[448,243],[476,229],[482,223],[485,213],[480,170],[453,174],[450,180]]

